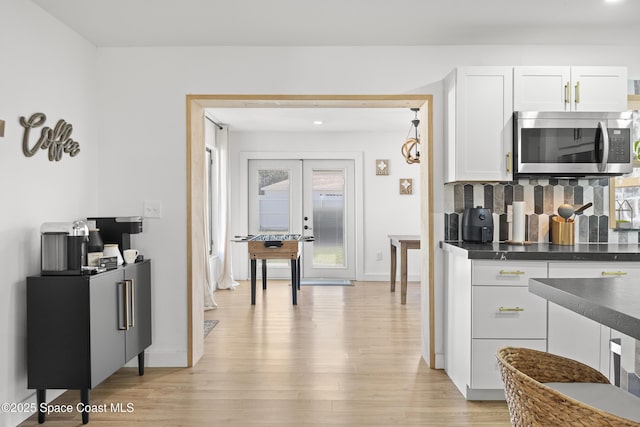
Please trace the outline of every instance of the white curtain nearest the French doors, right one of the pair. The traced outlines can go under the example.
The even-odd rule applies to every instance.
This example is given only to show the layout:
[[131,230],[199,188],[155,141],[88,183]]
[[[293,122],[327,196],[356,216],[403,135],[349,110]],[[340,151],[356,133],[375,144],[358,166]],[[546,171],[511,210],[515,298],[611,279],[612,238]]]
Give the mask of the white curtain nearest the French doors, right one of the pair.
[[230,201],[229,201],[229,129],[216,127],[216,148],[218,151],[218,260],[217,286],[218,289],[233,289],[238,283],[233,278],[231,270],[231,230],[230,230]]

